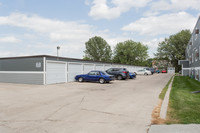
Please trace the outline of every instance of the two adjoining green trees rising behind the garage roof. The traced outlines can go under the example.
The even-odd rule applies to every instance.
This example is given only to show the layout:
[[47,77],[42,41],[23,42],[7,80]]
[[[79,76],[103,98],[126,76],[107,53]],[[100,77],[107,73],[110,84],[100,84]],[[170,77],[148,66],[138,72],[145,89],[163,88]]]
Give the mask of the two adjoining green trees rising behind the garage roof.
[[140,42],[127,40],[119,42],[112,51],[110,45],[102,37],[95,36],[85,43],[83,59],[104,61],[128,65],[148,66],[148,47]]

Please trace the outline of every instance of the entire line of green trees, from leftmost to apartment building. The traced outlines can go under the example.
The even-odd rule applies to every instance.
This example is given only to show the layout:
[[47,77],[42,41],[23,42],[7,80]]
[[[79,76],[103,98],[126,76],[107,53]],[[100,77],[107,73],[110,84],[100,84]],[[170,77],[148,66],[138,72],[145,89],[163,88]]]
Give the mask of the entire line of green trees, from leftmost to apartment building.
[[83,59],[148,67],[152,67],[152,61],[164,60],[170,62],[176,71],[179,71],[181,66],[178,65],[178,60],[185,60],[185,50],[190,37],[191,32],[187,29],[170,35],[159,42],[155,57],[148,58],[149,48],[141,42],[133,40],[119,42],[112,51],[106,40],[95,36],[85,43],[86,50]]

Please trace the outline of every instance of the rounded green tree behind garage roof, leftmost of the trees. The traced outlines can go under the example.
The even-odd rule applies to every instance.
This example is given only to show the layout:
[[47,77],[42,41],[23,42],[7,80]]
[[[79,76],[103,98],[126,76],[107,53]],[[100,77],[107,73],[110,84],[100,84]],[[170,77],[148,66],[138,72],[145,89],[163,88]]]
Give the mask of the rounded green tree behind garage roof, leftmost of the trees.
[[85,47],[84,59],[106,62],[111,61],[112,50],[103,38],[98,36],[92,37],[85,43]]

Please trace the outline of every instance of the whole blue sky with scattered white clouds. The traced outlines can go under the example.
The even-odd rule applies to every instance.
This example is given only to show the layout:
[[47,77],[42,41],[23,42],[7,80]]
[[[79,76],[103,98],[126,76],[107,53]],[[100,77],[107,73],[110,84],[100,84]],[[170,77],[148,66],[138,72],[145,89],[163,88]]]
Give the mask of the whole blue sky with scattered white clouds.
[[82,58],[85,42],[139,41],[153,57],[158,43],[193,30],[200,0],[0,0],[0,57],[48,54]]

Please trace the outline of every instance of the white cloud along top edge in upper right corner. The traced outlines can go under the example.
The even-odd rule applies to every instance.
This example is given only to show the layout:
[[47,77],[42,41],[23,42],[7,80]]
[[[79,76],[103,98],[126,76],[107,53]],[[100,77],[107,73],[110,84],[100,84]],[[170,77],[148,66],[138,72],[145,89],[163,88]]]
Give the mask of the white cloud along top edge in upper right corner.
[[152,3],[153,11],[183,11],[186,9],[200,10],[199,0],[160,0]]

